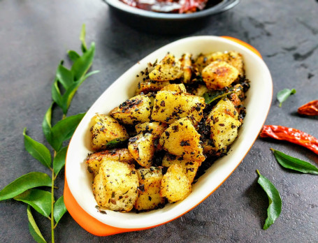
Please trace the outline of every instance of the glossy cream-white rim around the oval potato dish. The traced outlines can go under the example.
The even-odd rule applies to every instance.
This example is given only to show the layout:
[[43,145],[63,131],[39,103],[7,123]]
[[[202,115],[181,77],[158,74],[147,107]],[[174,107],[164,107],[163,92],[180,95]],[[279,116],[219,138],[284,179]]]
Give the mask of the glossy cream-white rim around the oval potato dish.
[[[205,189],[204,195],[201,196],[199,198],[199,200],[192,200],[191,199],[191,200],[189,200],[189,204],[190,204],[189,206],[187,206],[185,204],[182,204],[182,206],[186,206],[185,209],[180,209],[180,207],[178,207],[178,209],[175,210],[176,212],[173,215],[167,216],[165,214],[163,219],[157,219],[157,220],[152,221],[152,222],[142,221],[142,223],[139,222],[140,225],[136,224],[136,222],[131,220],[131,219],[129,219],[130,221],[128,223],[127,223],[127,221],[124,221],[124,220],[122,220],[122,221],[120,221],[120,220],[118,221],[117,220],[117,222],[111,221],[110,219],[101,220],[101,217],[99,217],[99,216],[96,217],[96,214],[92,214],[92,209],[91,208],[89,208],[89,210],[91,210],[91,211],[88,212],[87,209],[85,208],[85,205],[83,207],[83,203],[81,201],[79,201],[79,200],[76,200],[76,198],[78,198],[78,194],[79,194],[78,190],[77,190],[78,188],[76,188],[78,185],[74,185],[75,182],[72,182],[72,180],[71,180],[73,171],[72,171],[72,168],[70,168],[70,166],[68,166],[69,165],[68,159],[71,160],[71,158],[68,158],[68,156],[71,156],[70,155],[71,153],[70,154],[68,153],[68,152],[70,152],[70,149],[71,149],[71,146],[69,146],[68,147],[68,152],[67,152],[67,155],[66,155],[66,179],[68,181],[69,189],[70,189],[71,193],[73,194],[75,200],[80,205],[80,207],[82,207],[82,209],[84,209],[85,212],[87,212],[87,214],[90,214],[95,219],[101,221],[102,223],[105,223],[106,225],[113,226],[113,227],[119,227],[119,228],[127,228],[127,229],[133,228],[135,230],[137,230],[138,228],[150,228],[150,227],[158,226],[158,225],[160,225],[162,223],[167,223],[168,221],[176,219],[179,216],[181,216],[182,214],[185,214],[186,212],[189,212],[189,210],[193,209],[198,204],[200,204],[203,200],[205,200],[205,198],[210,196],[210,194],[213,191],[215,191],[231,175],[231,173],[237,168],[237,166],[240,164],[240,162],[244,159],[244,157],[247,154],[247,152],[249,152],[250,147],[252,147],[252,145],[254,144],[254,141],[256,140],[257,135],[259,134],[259,131],[261,130],[261,127],[263,126],[264,121],[266,120],[266,117],[268,115],[268,110],[270,108],[270,104],[271,104],[271,101],[272,101],[272,96],[273,96],[273,81],[272,81],[272,78],[270,76],[270,72],[268,70],[268,67],[263,62],[261,57],[259,57],[257,54],[252,52],[252,50],[247,49],[247,47],[245,47],[244,45],[242,45],[240,43],[236,43],[233,40],[229,40],[229,39],[226,39],[226,38],[221,38],[221,37],[218,37],[218,36],[193,36],[193,37],[189,37],[189,38],[182,38],[182,39],[176,40],[175,42],[170,43],[168,45],[164,45],[164,47],[161,47],[158,50],[155,50],[154,52],[152,52],[152,53],[148,54],[146,57],[144,57],[143,60],[145,60],[145,61],[141,60],[140,62],[138,62],[137,64],[135,64],[131,68],[129,68],[129,70],[126,71],[122,76],[120,76],[120,78],[118,78],[113,84],[111,84],[110,87],[108,87],[108,89],[111,90],[116,85],[117,81],[122,80],[123,78],[125,78],[125,75],[127,73],[129,75],[129,73],[131,73],[131,71],[135,71],[136,68],[138,68],[138,70],[140,71],[140,68],[143,68],[143,66],[140,66],[140,63],[142,65],[145,65],[145,62],[150,61],[149,59],[150,59],[151,56],[155,56],[156,54],[158,54],[159,52],[163,52],[164,50],[166,52],[167,50],[169,50],[168,48],[171,49],[174,45],[178,45],[178,44],[180,45],[180,43],[185,44],[185,43],[187,43],[187,41],[189,41],[191,43],[191,41],[195,41],[195,40],[220,42],[221,44],[223,43],[224,45],[229,45],[229,47],[226,47],[227,50],[229,50],[230,48],[232,48],[232,50],[236,49],[236,48],[239,49],[239,50],[244,50],[244,52],[247,53],[248,56],[250,56],[252,59],[256,60],[257,65],[261,66],[262,70],[265,72],[263,75],[266,77],[266,80],[267,80],[266,84],[268,84],[268,87],[266,87],[266,91],[268,91],[269,93],[268,93],[267,96],[265,96],[266,97],[266,105],[264,105],[264,107],[263,107],[263,110],[262,110],[263,112],[261,113],[261,118],[257,117],[257,119],[261,119],[261,121],[259,121],[259,123],[257,124],[257,129],[254,129],[254,130],[252,130],[252,132],[248,133],[249,135],[251,135],[250,133],[252,133],[252,137],[251,138],[245,138],[245,140],[244,140],[244,143],[245,144],[247,143],[247,145],[249,145],[249,146],[246,146],[246,148],[243,149],[243,153],[242,154],[234,156],[235,163],[229,165],[230,170],[228,172],[226,172],[226,174],[224,176],[223,175],[221,176],[222,177],[221,182],[219,182],[219,179],[218,179],[217,186],[213,187],[211,190],[206,190]],[[188,45],[189,45],[189,43],[188,43]],[[155,56],[155,57],[157,57],[157,56]],[[101,96],[96,100],[96,102],[92,105],[92,107],[89,110],[91,110],[92,108],[94,110],[94,107],[96,106],[96,103],[100,103],[99,100],[101,99],[102,96],[105,96],[105,94],[108,91],[108,89],[106,89],[106,91],[104,91],[103,94],[101,94]],[[108,93],[109,93],[109,91],[108,91]],[[89,111],[87,112],[87,115],[88,115],[88,113],[89,113]],[[89,114],[89,115],[92,115],[92,114]],[[76,129],[76,131],[75,131],[75,133],[74,133],[74,135],[73,135],[73,137],[71,139],[70,145],[72,144],[73,140],[78,138],[78,137],[76,137],[76,138],[74,138],[74,137],[75,137],[75,134],[78,132],[79,127],[83,123],[83,120],[80,122],[80,125]],[[240,150],[242,150],[242,149],[240,149]],[[229,156],[224,156],[224,157],[229,159]],[[236,158],[236,157],[238,157],[238,158]],[[79,163],[79,162],[77,161],[76,163]],[[235,166],[233,166],[233,165],[235,165]],[[207,174],[210,174],[210,172],[209,173],[205,173],[205,175],[207,175]],[[200,177],[200,179],[201,179],[201,177]],[[203,187],[203,189],[205,188],[205,186],[201,186],[201,187]],[[203,189],[201,189],[201,190],[203,190]],[[176,203],[175,205],[178,205],[178,203]],[[92,207],[92,205],[90,205],[90,207]],[[173,206],[173,209],[175,209],[174,206]],[[157,210],[154,210],[154,211],[157,211]],[[119,213],[119,214],[121,214],[121,213]],[[140,215],[140,214],[137,214],[137,215]],[[110,216],[111,219],[113,219],[112,217],[114,217],[114,216],[113,215]]]

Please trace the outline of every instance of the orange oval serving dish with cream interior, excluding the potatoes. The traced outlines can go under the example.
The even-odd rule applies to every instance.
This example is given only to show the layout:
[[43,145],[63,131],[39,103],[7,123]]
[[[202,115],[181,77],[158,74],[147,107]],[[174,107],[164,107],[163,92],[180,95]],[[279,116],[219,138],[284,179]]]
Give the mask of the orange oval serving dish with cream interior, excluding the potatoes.
[[[150,212],[121,213],[106,210],[101,214],[96,208],[96,201],[92,193],[92,175],[87,171],[85,163],[87,154],[91,150],[91,135],[89,123],[96,112],[110,112],[115,106],[132,97],[138,84],[136,75],[153,63],[162,59],[167,52],[181,57],[185,52],[194,54],[236,50],[243,54],[246,77],[250,82],[245,100],[246,117],[239,130],[238,138],[227,156],[215,161],[206,170],[198,182],[193,184],[191,194],[180,202],[168,204],[162,209]],[[118,78],[88,110],[76,129],[68,146],[66,156],[66,186],[64,201],[68,212],[85,230],[94,235],[113,235],[133,230],[143,230],[167,223],[182,216],[193,209],[215,191],[243,160],[256,140],[261,127],[267,117],[273,95],[273,83],[266,64],[259,52],[253,47],[234,38],[217,36],[195,36],[177,40],[161,47],[132,66]]]

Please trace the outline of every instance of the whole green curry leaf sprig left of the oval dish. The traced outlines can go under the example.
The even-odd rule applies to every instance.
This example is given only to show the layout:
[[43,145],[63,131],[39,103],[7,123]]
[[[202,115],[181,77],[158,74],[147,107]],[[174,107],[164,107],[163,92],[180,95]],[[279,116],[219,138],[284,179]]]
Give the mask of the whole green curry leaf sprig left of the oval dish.
[[[75,92],[80,84],[90,75],[98,71],[89,71],[92,66],[95,53],[95,44],[87,47],[85,41],[85,25],[80,33],[82,55],[73,50],[68,51],[68,57],[73,61],[71,69],[63,66],[61,61],[57,67],[55,81],[52,84],[52,104],[45,112],[42,122],[43,134],[51,145],[51,149],[27,135],[27,128],[24,128],[24,147],[42,165],[51,171],[51,177],[43,172],[29,172],[26,175],[15,179],[0,191],[0,201],[13,198],[28,205],[27,217],[29,219],[29,232],[36,242],[46,242],[41,230],[31,213],[31,207],[50,220],[51,238],[55,242],[54,230],[57,223],[66,212],[63,196],[55,201],[55,179],[65,165],[67,147],[64,142],[71,138],[75,128],[78,126],[84,113],[66,117],[68,108]],[[52,111],[56,107],[63,111],[63,117],[52,126]],[[38,187],[49,187],[50,191]]]

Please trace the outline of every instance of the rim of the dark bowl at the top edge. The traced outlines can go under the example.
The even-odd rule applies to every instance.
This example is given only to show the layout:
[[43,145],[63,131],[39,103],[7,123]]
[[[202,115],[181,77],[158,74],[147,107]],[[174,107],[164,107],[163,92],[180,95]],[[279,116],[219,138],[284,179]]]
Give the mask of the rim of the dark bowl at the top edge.
[[214,15],[217,13],[222,13],[230,8],[233,8],[240,0],[223,0],[217,5],[212,6],[211,8],[203,9],[196,13],[187,13],[187,14],[180,14],[180,13],[157,13],[153,11],[143,10],[140,8],[134,8],[132,6],[123,3],[120,0],[103,0],[108,3],[109,6],[116,8],[117,10],[121,10],[126,13],[131,13],[133,15],[138,15],[142,17],[148,17],[151,19],[156,20],[193,20],[201,17],[205,17],[208,15]]

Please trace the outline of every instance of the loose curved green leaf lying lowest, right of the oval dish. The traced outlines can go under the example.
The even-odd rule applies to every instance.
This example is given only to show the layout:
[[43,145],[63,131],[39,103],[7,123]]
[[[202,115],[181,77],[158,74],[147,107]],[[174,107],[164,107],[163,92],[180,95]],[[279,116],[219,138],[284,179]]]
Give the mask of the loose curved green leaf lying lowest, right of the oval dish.
[[280,198],[280,193],[277,191],[275,186],[269,179],[261,175],[259,170],[256,170],[259,174],[259,179],[257,182],[261,185],[263,190],[266,192],[268,196],[269,206],[267,209],[267,219],[264,223],[263,230],[267,230],[280,216],[280,212],[282,212],[282,199]]

